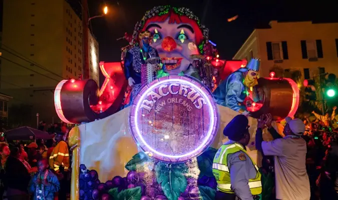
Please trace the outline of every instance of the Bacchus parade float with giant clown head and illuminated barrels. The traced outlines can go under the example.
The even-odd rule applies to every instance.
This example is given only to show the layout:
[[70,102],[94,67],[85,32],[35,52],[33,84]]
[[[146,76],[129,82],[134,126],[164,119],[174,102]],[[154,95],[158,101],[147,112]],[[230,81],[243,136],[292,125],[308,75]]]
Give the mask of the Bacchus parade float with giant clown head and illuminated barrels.
[[[140,53],[132,57],[135,71],[153,70],[131,95],[125,55],[140,45],[145,31],[151,32],[150,45],[160,58],[144,57],[142,65]],[[257,67],[258,59],[220,60],[208,29],[187,8],[154,7],[127,40],[121,63],[100,62],[102,88],[94,80],[69,79],[55,90],[59,117],[81,124],[69,133],[72,199],[214,199],[212,160],[226,140],[223,128],[240,113],[217,104],[212,92],[238,70]],[[252,141],[255,117],[267,112],[277,121],[292,116],[299,100],[291,79],[255,80],[240,102],[251,115]],[[259,163],[253,143],[248,153]]]

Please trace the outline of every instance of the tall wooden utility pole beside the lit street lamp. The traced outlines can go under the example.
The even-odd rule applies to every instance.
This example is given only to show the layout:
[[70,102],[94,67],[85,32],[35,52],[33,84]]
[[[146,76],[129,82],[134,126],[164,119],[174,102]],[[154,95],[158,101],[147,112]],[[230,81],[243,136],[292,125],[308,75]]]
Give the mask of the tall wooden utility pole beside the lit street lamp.
[[89,79],[89,48],[88,48],[88,2],[82,0],[82,54],[83,78]]

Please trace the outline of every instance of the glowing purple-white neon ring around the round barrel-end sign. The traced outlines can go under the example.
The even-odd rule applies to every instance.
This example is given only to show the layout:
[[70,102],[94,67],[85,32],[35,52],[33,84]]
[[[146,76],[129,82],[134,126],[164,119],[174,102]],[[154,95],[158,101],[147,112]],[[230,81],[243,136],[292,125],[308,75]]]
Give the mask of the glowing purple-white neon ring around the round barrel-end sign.
[[[206,104],[203,106],[207,106],[209,117],[209,128],[207,129],[206,136],[203,138],[203,141],[199,144],[198,147],[195,147],[194,150],[190,152],[184,152],[184,154],[180,155],[170,155],[165,154],[162,152],[159,152],[157,149],[154,149],[152,146],[150,146],[146,140],[143,138],[141,130],[139,128],[139,114],[140,114],[140,106],[142,104],[143,99],[147,98],[147,94],[154,90],[155,88],[169,82],[175,82],[175,83],[183,83],[185,85],[190,86],[191,88],[194,88],[198,91],[199,94],[206,100]],[[193,80],[188,77],[184,76],[165,76],[159,79],[156,79],[152,81],[150,84],[146,85],[141,89],[139,94],[136,96],[133,104],[131,105],[130,109],[130,116],[129,116],[129,128],[130,131],[135,139],[135,141],[140,145],[140,147],[144,151],[148,151],[152,153],[152,156],[156,159],[159,159],[161,161],[165,162],[183,162],[188,159],[191,159],[195,156],[198,156],[201,154],[206,148],[210,146],[212,143],[215,135],[217,134],[219,125],[219,117],[218,117],[218,109],[217,104],[213,99],[213,95],[201,82]],[[206,131],[205,131],[206,132]]]

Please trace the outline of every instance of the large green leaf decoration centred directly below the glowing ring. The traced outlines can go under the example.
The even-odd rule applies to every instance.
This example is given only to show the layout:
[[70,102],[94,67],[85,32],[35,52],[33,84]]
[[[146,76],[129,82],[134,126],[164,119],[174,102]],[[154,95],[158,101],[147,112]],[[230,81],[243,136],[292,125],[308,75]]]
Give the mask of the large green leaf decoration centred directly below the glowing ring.
[[187,172],[185,164],[170,164],[158,162],[155,166],[157,182],[168,200],[177,200],[187,187],[187,179],[183,175]]

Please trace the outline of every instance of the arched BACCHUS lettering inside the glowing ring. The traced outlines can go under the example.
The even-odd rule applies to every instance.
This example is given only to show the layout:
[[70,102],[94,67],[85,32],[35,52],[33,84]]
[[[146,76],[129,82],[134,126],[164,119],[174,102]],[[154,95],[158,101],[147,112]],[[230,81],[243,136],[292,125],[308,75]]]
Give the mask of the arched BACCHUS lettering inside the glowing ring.
[[[198,91],[196,91],[196,89],[186,84],[170,83],[163,84],[159,86],[158,89],[155,89],[155,91],[153,90],[148,92],[147,98],[150,97],[151,100],[144,99],[140,108],[144,108],[150,111],[154,107],[156,101],[160,100],[164,96],[168,96],[169,94],[187,97],[187,99],[190,100],[197,109],[201,109],[203,104],[206,104],[206,100],[201,96]],[[187,102],[185,100],[182,100],[181,98],[178,100],[177,98],[167,98],[167,102],[176,102],[183,105],[188,105]],[[164,101],[164,104],[165,103],[166,101]],[[187,106],[188,111],[191,111],[191,109],[191,106]]]

